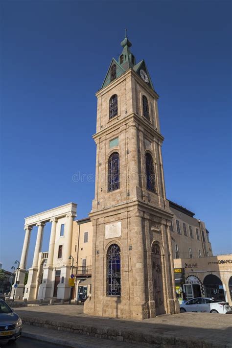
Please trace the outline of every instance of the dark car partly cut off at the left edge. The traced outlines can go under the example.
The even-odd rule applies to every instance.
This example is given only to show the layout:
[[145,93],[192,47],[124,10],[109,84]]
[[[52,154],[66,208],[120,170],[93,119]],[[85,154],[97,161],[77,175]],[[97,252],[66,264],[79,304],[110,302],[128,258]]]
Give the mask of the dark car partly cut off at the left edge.
[[16,340],[21,336],[22,320],[0,299],[0,341]]

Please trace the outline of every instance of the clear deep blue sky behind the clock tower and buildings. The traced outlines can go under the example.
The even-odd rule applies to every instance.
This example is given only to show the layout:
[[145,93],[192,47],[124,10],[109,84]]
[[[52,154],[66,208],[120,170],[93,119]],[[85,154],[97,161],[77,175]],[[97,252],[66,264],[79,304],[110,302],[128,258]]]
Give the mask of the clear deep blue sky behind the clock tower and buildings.
[[[91,210],[96,98],[124,28],[160,94],[166,193],[231,252],[231,1],[1,1],[1,249],[20,260],[24,217]],[[32,262],[36,229],[28,263]],[[46,226],[43,250],[48,249]]]

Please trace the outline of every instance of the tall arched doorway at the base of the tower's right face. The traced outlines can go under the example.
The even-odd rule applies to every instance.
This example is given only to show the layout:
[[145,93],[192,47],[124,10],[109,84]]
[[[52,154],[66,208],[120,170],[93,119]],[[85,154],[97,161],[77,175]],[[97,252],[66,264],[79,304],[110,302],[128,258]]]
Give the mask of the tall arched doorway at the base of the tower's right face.
[[162,281],[162,259],[161,249],[158,244],[152,246],[152,275],[153,275],[153,291],[156,306],[156,315],[164,314],[164,297],[163,297],[163,281]]

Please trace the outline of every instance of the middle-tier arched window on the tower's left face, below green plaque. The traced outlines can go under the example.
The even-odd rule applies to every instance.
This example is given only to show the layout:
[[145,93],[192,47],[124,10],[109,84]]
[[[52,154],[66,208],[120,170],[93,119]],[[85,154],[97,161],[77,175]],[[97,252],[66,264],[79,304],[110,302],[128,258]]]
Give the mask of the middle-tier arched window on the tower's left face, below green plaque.
[[119,155],[113,152],[108,160],[108,192],[117,190],[119,187]]

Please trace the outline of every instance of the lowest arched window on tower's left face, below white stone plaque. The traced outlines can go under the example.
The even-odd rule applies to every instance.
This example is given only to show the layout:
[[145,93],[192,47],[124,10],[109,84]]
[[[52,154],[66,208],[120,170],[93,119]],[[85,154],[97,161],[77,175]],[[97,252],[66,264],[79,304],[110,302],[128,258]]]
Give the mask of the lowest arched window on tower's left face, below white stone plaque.
[[121,258],[117,244],[107,251],[107,295],[121,296]]

